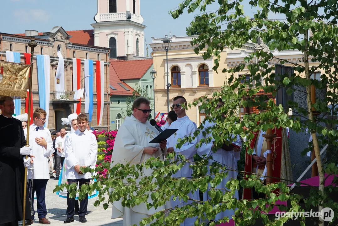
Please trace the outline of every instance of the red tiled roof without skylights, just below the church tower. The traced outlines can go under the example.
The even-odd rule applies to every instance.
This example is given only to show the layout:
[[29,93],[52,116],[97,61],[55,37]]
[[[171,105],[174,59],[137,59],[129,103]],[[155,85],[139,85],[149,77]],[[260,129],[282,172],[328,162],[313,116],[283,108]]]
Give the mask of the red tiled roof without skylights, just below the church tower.
[[119,79],[140,79],[153,64],[153,59],[145,60],[110,60]]

